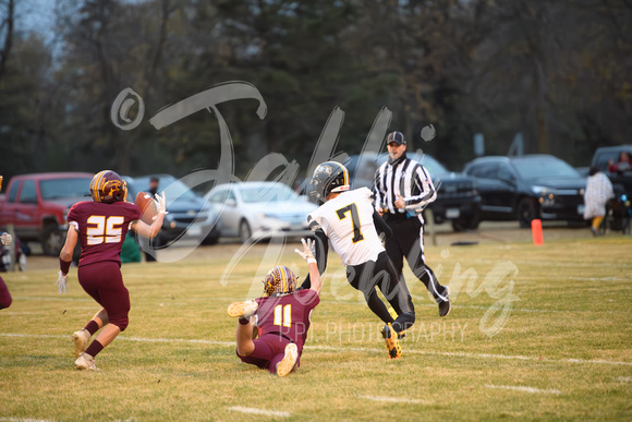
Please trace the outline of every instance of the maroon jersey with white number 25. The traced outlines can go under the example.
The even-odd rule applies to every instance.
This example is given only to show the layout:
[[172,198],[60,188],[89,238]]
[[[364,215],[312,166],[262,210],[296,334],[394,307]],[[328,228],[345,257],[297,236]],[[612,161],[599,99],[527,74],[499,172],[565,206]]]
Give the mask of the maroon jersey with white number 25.
[[80,266],[102,261],[121,264],[121,245],[132,221],[141,218],[141,209],[127,202],[106,204],[80,202],[68,213],[68,222],[75,226],[82,245]]

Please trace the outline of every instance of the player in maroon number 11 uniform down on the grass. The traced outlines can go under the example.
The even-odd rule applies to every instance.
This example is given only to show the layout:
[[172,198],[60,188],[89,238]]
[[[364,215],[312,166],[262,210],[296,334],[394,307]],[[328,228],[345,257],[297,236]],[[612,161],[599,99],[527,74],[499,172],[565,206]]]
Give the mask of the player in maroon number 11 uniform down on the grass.
[[[300,365],[303,345],[309,329],[312,311],[320,302],[320,275],[314,258],[313,241],[305,239],[301,255],[309,267],[312,287],[296,290],[296,276],[285,266],[272,268],[264,280],[264,297],[228,306],[230,316],[239,317],[236,354],[242,362],[268,369],[285,376]],[[259,338],[253,340],[255,316]]]

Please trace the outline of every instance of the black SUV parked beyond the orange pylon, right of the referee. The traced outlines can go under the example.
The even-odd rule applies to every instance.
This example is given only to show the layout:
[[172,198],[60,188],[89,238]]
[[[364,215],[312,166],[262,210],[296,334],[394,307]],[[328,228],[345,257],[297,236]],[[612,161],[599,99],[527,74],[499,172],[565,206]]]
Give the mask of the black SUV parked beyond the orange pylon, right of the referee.
[[530,227],[535,218],[582,221],[586,179],[551,155],[481,157],[465,165],[482,196],[482,220],[515,220]]

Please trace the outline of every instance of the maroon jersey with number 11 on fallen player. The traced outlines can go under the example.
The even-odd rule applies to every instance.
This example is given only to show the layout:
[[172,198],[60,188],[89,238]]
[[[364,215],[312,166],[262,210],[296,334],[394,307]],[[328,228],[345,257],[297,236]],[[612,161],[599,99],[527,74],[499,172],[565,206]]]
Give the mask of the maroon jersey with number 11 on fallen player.
[[299,290],[292,294],[256,299],[259,304],[257,327],[259,336],[279,333],[303,348],[309,328],[312,310],[320,303],[314,290]]

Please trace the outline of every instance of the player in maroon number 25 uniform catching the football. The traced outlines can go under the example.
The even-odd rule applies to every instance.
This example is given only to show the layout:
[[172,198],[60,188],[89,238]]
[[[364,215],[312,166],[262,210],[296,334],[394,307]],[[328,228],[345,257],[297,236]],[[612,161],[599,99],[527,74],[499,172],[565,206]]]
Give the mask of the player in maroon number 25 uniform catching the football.
[[[121,245],[129,229],[155,238],[165,218],[165,193],[156,196],[158,214],[151,226],[139,220],[141,209],[125,202],[127,184],[110,170],[98,172],[90,182],[93,202],[84,201],[72,206],[68,214],[68,236],[59,255],[58,290],[68,292],[68,272],[76,242],[81,242],[77,278],[83,289],[104,306],[75,331],[74,352],[77,370],[97,370],[95,357],[127,327],[130,292],[121,275]],[[90,337],[104,328],[89,345]]]

